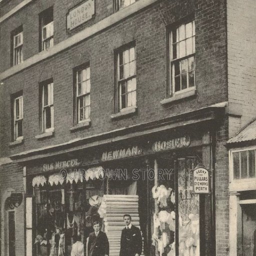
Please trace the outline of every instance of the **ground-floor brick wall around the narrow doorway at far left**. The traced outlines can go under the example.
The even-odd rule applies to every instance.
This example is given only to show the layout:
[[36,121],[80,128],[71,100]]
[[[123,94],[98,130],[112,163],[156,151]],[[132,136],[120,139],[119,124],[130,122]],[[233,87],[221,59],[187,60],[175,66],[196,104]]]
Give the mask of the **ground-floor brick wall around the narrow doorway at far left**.
[[[23,193],[23,168],[17,164],[0,166],[0,198],[8,188]],[[1,201],[4,207],[4,201]],[[7,255],[7,211],[1,211],[1,255]],[[15,207],[15,251],[16,256],[23,256],[24,252],[24,198],[21,204]]]

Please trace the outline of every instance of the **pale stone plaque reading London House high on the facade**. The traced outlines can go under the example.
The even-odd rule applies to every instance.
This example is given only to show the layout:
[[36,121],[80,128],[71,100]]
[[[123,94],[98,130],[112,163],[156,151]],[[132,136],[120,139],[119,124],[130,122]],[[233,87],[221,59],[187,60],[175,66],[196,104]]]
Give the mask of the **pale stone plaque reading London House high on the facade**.
[[70,10],[66,16],[66,27],[69,30],[92,18],[95,13],[94,0],[87,0]]

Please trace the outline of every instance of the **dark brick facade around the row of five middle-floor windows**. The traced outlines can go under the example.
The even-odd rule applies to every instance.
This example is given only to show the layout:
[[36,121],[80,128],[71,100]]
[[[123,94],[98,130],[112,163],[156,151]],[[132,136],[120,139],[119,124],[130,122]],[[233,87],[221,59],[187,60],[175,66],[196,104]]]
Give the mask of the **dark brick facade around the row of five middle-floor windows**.
[[[44,7],[50,5],[49,0],[43,2]],[[1,144],[4,148],[2,152],[8,155],[62,143],[120,127],[159,120],[225,101],[226,33],[223,2],[222,0],[200,0],[196,3],[188,0],[171,2],[159,0],[73,47],[5,79],[0,87],[1,119],[4,120],[1,122]],[[58,1],[55,1],[54,4],[57,6],[57,3]],[[35,10],[33,12],[37,13]],[[193,12],[196,26],[197,95],[161,105],[160,100],[166,96],[165,26]],[[15,15],[8,22],[18,20],[19,15],[20,13],[17,13],[17,16]],[[23,21],[25,22],[24,19]],[[7,27],[6,25],[4,28],[6,32]],[[37,28],[34,27],[33,31],[36,37]],[[110,114],[114,109],[113,50],[132,40],[136,41],[137,113],[111,120]],[[31,52],[33,52],[33,47],[31,47]],[[72,68],[86,61],[90,62],[91,70],[91,127],[70,132]],[[54,81],[55,133],[53,137],[36,140],[35,135],[39,133],[38,82],[50,77],[53,77]],[[9,99],[11,93],[20,89],[23,89],[24,101],[24,143],[9,148],[11,123]]]

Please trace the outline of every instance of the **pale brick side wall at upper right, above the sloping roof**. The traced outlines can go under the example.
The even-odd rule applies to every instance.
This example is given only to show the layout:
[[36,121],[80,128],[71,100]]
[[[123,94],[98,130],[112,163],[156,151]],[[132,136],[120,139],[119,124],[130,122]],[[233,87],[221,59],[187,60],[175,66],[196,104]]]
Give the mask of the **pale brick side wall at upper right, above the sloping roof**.
[[255,11],[254,0],[227,0],[228,101],[241,104],[241,127],[256,117]]

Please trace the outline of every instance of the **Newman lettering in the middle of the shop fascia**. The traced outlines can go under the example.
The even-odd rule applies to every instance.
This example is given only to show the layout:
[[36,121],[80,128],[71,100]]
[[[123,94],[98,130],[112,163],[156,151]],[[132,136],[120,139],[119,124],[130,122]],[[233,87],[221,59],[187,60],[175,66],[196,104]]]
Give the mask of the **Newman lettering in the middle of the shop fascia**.
[[141,154],[142,150],[138,146],[132,146],[114,151],[106,151],[102,153],[102,161],[125,158]]

